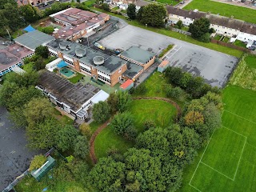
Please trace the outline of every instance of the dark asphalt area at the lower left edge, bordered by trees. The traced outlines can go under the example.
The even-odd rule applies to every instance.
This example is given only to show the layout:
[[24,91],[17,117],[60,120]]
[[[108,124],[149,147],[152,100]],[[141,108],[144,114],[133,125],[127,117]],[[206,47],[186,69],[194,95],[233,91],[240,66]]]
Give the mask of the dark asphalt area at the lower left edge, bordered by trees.
[[30,165],[30,159],[38,154],[26,148],[24,129],[14,129],[10,114],[0,107],[0,191],[13,182]]

